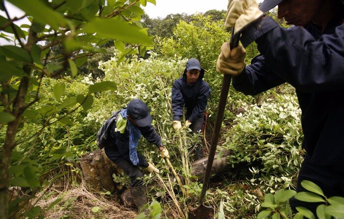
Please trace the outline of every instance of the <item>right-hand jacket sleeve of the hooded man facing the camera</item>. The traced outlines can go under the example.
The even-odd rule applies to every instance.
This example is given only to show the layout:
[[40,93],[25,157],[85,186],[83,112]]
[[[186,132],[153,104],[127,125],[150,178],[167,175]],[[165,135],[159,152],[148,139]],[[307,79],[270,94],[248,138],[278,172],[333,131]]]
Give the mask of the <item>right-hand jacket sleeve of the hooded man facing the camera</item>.
[[204,114],[210,93],[211,93],[211,90],[208,84],[205,84],[201,87],[200,93],[197,97],[197,104],[194,107],[194,110],[192,111],[191,116],[187,118],[187,120],[189,120],[190,122],[193,122],[196,118]]

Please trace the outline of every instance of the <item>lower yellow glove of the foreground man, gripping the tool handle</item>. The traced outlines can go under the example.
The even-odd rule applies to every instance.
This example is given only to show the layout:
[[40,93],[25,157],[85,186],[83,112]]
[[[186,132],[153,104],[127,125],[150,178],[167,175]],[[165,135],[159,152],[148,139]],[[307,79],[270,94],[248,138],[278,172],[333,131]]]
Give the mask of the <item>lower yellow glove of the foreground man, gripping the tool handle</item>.
[[224,43],[217,58],[216,71],[231,76],[239,75],[245,68],[245,56],[246,50],[242,46],[230,50],[229,43]]

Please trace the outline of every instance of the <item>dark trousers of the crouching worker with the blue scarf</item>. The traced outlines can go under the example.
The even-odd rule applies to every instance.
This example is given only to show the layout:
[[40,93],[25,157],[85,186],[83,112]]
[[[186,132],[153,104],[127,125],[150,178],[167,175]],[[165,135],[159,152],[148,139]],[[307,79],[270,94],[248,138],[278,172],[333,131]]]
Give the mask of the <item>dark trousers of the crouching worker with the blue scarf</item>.
[[121,168],[125,174],[130,177],[130,186],[139,187],[143,184],[143,173],[142,171],[133,165],[133,163],[122,156],[120,156],[118,149],[115,146],[104,147],[105,154],[108,158],[114,162],[119,168]]

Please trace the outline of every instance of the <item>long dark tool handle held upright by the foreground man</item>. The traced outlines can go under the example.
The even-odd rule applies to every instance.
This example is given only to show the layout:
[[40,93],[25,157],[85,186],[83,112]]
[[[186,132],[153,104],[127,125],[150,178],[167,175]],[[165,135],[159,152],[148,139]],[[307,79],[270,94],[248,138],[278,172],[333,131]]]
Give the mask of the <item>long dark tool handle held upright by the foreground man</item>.
[[[229,46],[230,49],[233,49],[238,46],[239,44],[239,35],[234,35],[234,28],[232,28],[232,35],[229,41]],[[216,119],[215,119],[215,127],[213,131],[213,136],[211,138],[211,145],[209,149],[209,155],[208,155],[208,161],[206,164],[206,169],[204,173],[204,180],[203,180],[203,187],[201,191],[201,197],[200,197],[200,205],[203,204],[205,192],[208,187],[209,179],[210,179],[210,172],[211,168],[213,166],[214,162],[214,156],[216,152],[216,146],[219,141],[219,135],[220,135],[220,130],[221,130],[221,124],[222,120],[224,117],[224,112],[226,108],[226,102],[227,102],[227,97],[229,93],[229,85],[230,85],[230,79],[231,76],[229,74],[224,74],[224,77],[222,79],[222,87],[221,87],[221,93],[220,93],[220,102],[218,106],[218,111],[216,114]]]

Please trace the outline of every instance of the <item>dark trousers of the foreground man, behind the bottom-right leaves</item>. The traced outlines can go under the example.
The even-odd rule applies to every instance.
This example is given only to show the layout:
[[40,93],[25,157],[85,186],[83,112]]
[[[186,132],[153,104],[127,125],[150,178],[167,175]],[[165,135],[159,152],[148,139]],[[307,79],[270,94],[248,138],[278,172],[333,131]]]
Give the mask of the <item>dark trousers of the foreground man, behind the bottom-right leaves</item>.
[[[318,185],[326,197],[344,196],[344,160],[338,161],[333,165],[320,165],[305,157],[299,175],[297,177],[296,192],[307,192],[301,186],[302,180],[309,180]],[[304,202],[292,197],[289,199],[291,209],[297,212],[296,207],[305,207],[316,216],[316,207],[321,202]]]

